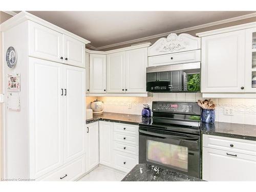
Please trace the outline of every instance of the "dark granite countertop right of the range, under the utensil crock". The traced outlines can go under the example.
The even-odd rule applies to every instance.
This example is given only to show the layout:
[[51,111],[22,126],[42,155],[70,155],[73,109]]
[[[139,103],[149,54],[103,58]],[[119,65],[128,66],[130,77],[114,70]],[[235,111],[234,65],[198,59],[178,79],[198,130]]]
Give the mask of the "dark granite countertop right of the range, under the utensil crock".
[[201,133],[237,139],[256,140],[256,125],[225,123],[201,123]]

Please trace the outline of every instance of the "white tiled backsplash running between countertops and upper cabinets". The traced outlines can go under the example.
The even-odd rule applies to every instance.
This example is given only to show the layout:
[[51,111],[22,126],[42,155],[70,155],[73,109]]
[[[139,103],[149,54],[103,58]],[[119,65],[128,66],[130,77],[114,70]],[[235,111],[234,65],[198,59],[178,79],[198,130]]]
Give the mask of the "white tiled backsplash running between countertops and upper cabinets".
[[[188,101],[203,99],[201,93],[154,93],[153,97],[97,97],[103,101],[105,112],[141,114],[143,103],[152,105],[152,101]],[[95,100],[88,97],[87,103]],[[256,125],[256,99],[214,98],[217,103],[216,121],[245,123]],[[131,103],[132,108],[128,109]],[[224,107],[233,109],[233,116],[224,115]],[[90,108],[90,105],[87,105]]]

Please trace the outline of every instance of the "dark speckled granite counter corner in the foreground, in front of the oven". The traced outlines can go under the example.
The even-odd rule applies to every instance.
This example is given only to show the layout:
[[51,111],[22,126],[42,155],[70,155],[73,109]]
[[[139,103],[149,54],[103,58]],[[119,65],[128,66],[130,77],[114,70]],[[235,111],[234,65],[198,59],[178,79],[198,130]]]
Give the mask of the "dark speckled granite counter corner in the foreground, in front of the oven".
[[137,164],[122,181],[204,181],[149,164]]

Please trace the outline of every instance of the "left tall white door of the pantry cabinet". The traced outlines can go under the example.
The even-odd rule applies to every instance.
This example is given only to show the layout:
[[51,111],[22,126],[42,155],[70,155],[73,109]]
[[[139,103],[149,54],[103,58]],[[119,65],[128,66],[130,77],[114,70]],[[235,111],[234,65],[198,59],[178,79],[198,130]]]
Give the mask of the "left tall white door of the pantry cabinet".
[[30,178],[63,164],[62,64],[29,58]]

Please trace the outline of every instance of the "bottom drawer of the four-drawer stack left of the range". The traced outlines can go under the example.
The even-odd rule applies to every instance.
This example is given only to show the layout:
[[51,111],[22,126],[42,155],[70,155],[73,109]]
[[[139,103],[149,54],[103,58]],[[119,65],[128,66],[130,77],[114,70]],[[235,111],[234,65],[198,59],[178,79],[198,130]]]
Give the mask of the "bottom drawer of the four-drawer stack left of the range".
[[139,163],[137,155],[131,155],[114,150],[115,168],[123,172],[130,172],[130,170]]

